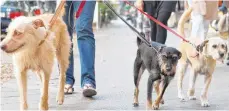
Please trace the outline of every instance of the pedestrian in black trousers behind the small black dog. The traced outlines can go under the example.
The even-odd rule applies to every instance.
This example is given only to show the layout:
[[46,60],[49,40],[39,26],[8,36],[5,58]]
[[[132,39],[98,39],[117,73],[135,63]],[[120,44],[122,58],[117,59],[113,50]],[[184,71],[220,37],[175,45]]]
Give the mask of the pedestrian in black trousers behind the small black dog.
[[[135,5],[153,16],[163,24],[167,25],[168,19],[173,11],[175,11],[177,1],[144,1],[137,0]],[[151,40],[165,44],[167,38],[167,30],[154,21],[151,24]]]

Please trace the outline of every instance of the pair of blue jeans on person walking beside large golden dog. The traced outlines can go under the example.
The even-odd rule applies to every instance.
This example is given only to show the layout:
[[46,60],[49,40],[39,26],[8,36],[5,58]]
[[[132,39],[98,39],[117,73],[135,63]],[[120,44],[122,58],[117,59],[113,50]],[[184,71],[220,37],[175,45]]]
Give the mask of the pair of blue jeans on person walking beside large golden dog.
[[[67,28],[69,31],[69,35],[71,37],[71,41],[73,38],[74,32],[74,20],[75,14],[78,10],[81,1],[66,1],[65,5],[65,16],[63,17],[65,23],[67,24]],[[81,87],[84,84],[91,84],[94,88],[96,88],[95,82],[95,39],[92,29],[93,17],[94,17],[94,9],[95,9],[96,1],[87,1],[84,5],[83,11],[80,14],[79,18],[76,19],[76,34],[77,34],[77,42],[78,49],[80,54],[80,65],[81,65]],[[73,42],[72,42],[73,43]],[[71,46],[71,49],[73,44]],[[74,57],[73,50],[70,52],[70,64],[69,68],[66,72],[66,84],[73,85],[75,83],[74,78]]]

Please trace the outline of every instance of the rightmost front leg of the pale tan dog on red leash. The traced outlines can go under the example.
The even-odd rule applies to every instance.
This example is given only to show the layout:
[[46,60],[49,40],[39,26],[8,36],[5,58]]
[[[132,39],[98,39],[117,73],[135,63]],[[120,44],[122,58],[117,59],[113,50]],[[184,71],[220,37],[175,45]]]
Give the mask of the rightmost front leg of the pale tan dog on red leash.
[[212,79],[212,74],[205,75],[205,78],[204,78],[204,84],[205,85],[204,85],[204,88],[202,90],[201,97],[200,97],[201,105],[203,107],[210,106],[208,103],[207,93],[208,93],[208,88],[209,88],[210,83],[211,83],[211,79]]

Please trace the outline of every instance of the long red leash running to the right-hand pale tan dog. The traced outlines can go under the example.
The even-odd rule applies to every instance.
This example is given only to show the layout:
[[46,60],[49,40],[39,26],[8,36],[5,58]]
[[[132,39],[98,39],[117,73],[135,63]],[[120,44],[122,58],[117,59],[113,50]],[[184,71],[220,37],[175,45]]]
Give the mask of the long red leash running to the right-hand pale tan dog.
[[[188,40],[186,40],[184,37],[182,37],[181,35],[179,35],[178,33],[176,33],[175,31],[173,31],[171,28],[167,27],[166,25],[164,25],[163,23],[161,23],[160,21],[158,21],[157,19],[155,19],[154,17],[150,16],[149,14],[145,13],[144,11],[138,9],[137,7],[135,7],[133,4],[131,4],[130,2],[128,2],[127,0],[124,0],[124,2],[126,2],[127,4],[129,4],[130,6],[136,8],[138,11],[140,11],[142,14],[146,15],[150,20],[153,20],[154,22],[156,22],[157,24],[159,24],[161,27],[165,28],[166,30],[172,32],[173,34],[175,34],[176,36],[178,36],[179,38],[181,38],[183,41],[190,43]],[[192,44],[192,43],[190,43]],[[193,45],[193,44],[192,44]]]

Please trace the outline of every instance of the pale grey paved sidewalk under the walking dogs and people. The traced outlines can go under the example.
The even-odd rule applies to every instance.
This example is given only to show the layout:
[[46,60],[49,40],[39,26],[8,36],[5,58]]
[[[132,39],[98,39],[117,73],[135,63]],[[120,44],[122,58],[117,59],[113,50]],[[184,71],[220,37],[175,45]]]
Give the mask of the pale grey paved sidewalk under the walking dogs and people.
[[[57,105],[58,70],[53,69],[49,88],[49,107],[51,110],[145,110],[146,83],[148,74],[142,77],[140,83],[139,107],[134,108],[133,101],[133,62],[136,55],[136,36],[122,21],[112,21],[108,28],[95,32],[96,36],[96,80],[98,95],[92,99],[82,96],[80,89],[80,65],[78,50],[75,46],[75,93],[66,95],[63,105]],[[168,33],[167,45],[177,47],[180,40]],[[4,56],[4,60],[10,57]],[[180,102],[177,98],[176,78],[172,80],[165,92],[165,104],[162,110],[229,110],[229,68],[218,65],[213,75],[209,90],[208,108],[200,106],[200,91],[203,87],[203,76],[199,76],[196,83],[196,101]],[[188,88],[188,76],[185,77],[184,88]],[[38,109],[40,100],[40,81],[34,73],[29,72],[28,105],[29,109]],[[154,93],[154,92],[153,92]],[[153,100],[155,99],[153,94]],[[1,85],[1,109],[18,110],[19,94],[15,79]]]

